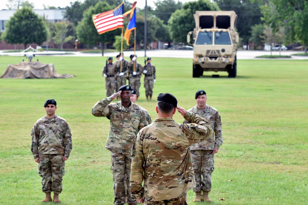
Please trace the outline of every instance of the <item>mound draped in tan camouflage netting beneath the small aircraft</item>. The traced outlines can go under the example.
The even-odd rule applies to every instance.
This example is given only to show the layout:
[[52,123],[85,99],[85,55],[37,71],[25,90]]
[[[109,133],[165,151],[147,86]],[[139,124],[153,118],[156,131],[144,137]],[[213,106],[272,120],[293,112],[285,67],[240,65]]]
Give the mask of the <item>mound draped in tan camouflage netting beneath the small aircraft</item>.
[[0,78],[68,78],[75,77],[70,74],[59,75],[55,71],[54,64],[41,62],[20,62],[19,64],[8,65]]

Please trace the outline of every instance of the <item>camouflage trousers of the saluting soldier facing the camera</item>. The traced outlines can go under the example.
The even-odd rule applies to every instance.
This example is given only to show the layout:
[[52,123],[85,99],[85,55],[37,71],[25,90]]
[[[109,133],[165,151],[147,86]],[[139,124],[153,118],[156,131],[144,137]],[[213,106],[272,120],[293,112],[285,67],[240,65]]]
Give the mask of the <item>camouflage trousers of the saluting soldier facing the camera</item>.
[[128,204],[137,204],[129,191],[132,156],[111,152],[111,172],[113,178],[114,204],[123,205],[127,197]]

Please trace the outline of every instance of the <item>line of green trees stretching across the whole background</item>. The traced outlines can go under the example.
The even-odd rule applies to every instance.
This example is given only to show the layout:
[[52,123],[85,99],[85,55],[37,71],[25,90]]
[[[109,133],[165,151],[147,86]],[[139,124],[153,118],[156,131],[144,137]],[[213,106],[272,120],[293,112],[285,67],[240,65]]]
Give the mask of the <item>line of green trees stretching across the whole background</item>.
[[[14,2],[14,0],[11,0]],[[26,1],[27,2],[27,1]],[[92,16],[112,10],[122,0],[85,0],[71,2],[65,8],[65,21],[51,24],[44,17],[32,11],[33,5],[23,2],[6,24],[1,40],[12,44],[29,44],[54,41],[62,48],[63,43],[78,39],[89,47],[113,43],[119,49],[121,30],[117,29],[99,35],[92,22]],[[148,6],[147,42],[164,41],[186,43],[189,31],[195,28],[193,14],[196,10],[234,10],[238,16],[236,29],[241,44],[253,42],[255,48],[264,43],[308,45],[308,2],[306,0],[198,0],[182,4],[175,0],[157,0],[155,8]],[[124,12],[132,4],[124,1]],[[138,4],[137,4],[138,6]],[[55,9],[55,7],[50,7]],[[58,9],[61,9],[58,7]],[[144,44],[144,8],[136,12],[136,42]],[[128,18],[124,18],[124,30]],[[130,46],[133,44],[131,35]],[[124,48],[126,43],[123,44]]]

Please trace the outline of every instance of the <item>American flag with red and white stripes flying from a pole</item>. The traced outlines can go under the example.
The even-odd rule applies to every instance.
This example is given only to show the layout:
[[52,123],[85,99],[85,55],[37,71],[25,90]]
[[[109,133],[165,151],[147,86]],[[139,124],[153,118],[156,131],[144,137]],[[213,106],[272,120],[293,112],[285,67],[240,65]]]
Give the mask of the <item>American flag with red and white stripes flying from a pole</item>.
[[116,7],[114,10],[105,11],[100,14],[93,15],[93,23],[99,34],[112,31],[123,27],[123,9],[124,3]]

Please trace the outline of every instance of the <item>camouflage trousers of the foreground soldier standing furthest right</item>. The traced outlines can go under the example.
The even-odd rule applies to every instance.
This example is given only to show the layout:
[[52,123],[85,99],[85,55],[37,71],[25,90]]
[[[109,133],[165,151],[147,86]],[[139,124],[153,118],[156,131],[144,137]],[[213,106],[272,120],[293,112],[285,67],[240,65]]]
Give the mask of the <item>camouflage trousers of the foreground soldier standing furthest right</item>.
[[[194,192],[211,191],[212,172],[214,171],[213,150],[191,150],[196,187]],[[201,180],[202,174],[202,180]]]

